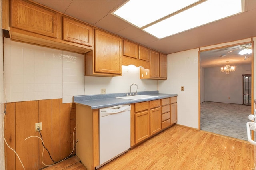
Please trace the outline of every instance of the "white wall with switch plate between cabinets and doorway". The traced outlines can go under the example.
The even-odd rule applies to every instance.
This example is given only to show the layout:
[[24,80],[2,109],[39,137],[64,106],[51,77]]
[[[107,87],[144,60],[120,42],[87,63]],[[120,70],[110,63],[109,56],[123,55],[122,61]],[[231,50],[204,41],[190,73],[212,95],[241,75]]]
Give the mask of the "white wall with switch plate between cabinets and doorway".
[[159,81],[159,93],[178,94],[177,123],[198,128],[198,49],[168,54],[167,62],[168,78]]

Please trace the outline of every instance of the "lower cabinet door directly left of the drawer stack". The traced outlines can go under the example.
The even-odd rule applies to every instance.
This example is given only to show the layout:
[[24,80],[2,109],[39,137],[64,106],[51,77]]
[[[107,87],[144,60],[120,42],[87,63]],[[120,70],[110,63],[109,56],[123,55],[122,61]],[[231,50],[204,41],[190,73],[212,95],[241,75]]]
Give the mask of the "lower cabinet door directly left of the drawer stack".
[[161,109],[160,107],[150,110],[150,135],[161,130]]

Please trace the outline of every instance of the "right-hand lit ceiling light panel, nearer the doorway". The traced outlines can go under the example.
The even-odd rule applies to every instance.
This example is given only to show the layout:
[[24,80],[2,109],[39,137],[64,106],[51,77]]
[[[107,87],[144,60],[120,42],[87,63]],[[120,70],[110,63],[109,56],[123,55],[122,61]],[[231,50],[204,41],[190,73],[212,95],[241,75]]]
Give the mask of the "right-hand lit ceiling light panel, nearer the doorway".
[[208,0],[143,30],[164,38],[242,12],[241,0]]

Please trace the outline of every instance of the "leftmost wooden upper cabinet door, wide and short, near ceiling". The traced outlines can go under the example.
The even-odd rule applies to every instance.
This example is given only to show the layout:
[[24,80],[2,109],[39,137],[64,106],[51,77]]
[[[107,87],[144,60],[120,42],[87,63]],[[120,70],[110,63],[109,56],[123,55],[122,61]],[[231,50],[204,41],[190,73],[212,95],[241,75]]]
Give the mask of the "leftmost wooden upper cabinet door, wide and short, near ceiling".
[[10,26],[57,38],[57,14],[25,1],[10,1]]

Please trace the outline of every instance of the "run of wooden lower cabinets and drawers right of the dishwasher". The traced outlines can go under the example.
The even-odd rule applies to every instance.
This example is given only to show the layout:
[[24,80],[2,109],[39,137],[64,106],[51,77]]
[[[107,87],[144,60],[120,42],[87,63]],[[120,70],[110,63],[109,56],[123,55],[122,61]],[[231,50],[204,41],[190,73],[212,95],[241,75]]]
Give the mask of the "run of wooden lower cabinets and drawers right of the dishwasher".
[[134,103],[131,120],[131,146],[134,146],[177,122],[177,97]]

